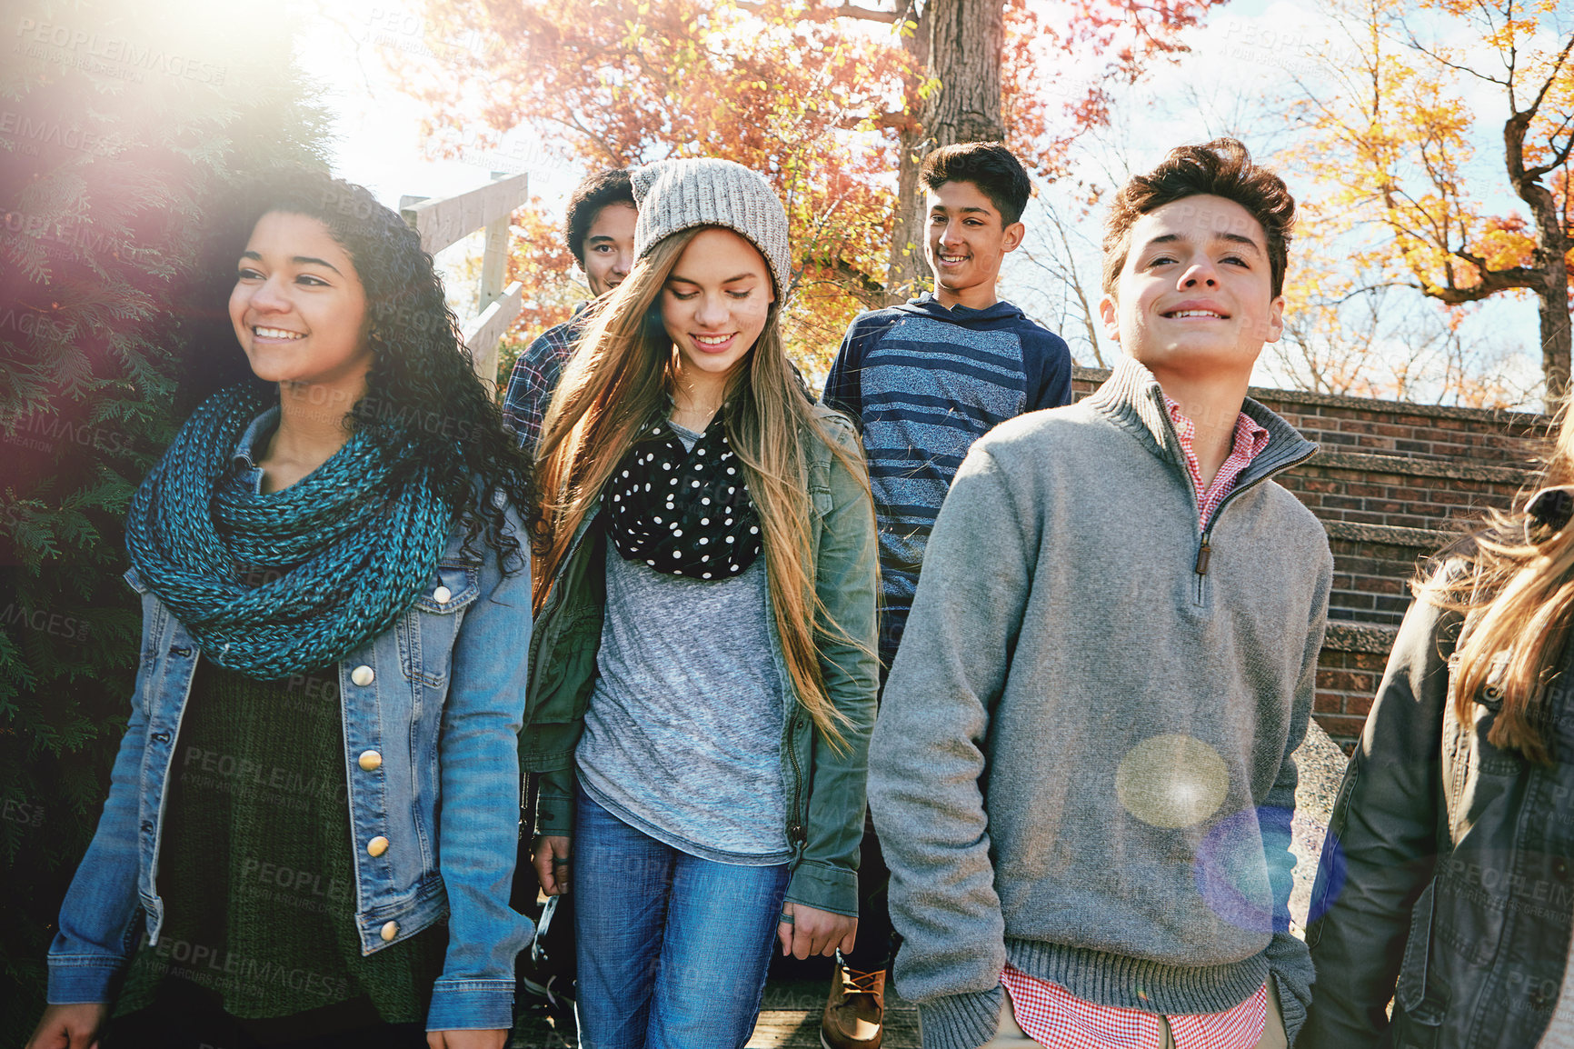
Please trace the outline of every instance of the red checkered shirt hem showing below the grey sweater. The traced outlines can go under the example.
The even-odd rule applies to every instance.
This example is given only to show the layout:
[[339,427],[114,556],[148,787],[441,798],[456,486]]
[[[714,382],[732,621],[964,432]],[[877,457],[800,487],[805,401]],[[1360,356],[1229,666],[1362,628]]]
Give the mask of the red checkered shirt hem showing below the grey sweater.
[[1066,988],[1006,966],[999,981],[1011,994],[1017,1027],[1056,1049],[1162,1049],[1165,1024],[1176,1049],[1253,1049],[1269,1016],[1269,986],[1232,1010],[1160,1017],[1158,1013],[1083,1002]]

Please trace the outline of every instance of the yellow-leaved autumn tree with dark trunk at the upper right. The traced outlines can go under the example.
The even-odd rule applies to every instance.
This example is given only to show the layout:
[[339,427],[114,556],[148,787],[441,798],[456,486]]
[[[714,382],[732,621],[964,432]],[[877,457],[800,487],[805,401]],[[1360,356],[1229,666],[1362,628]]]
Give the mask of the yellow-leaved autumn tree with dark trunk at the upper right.
[[[1341,0],[1346,41],[1332,87],[1310,90],[1305,170],[1335,186],[1330,203],[1365,247],[1354,269],[1461,307],[1533,295],[1547,402],[1569,381],[1569,154],[1574,150],[1574,22],[1550,0],[1464,3]],[[1462,39],[1465,44],[1442,44]],[[1475,134],[1464,88],[1489,85],[1502,131]],[[1506,115],[1503,115],[1506,113]],[[1494,123],[1494,126],[1497,126]],[[1470,184],[1492,158],[1528,219],[1497,211]]]

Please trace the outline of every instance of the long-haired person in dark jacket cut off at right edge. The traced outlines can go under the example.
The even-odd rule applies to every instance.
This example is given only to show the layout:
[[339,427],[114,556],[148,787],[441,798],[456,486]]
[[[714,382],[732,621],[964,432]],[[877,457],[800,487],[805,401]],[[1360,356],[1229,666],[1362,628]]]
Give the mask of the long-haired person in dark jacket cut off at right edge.
[[1324,843],[1302,1049],[1517,1049],[1547,1025],[1574,917],[1566,408],[1544,484],[1415,584]]

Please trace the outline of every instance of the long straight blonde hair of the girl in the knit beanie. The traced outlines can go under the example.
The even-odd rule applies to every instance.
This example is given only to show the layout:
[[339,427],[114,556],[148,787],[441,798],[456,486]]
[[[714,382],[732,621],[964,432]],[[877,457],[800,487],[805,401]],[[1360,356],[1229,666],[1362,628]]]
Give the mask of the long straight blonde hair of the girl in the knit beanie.
[[[537,611],[612,469],[636,435],[667,411],[677,350],[661,324],[660,296],[683,249],[704,228],[674,233],[641,258],[589,321],[546,410],[537,449],[541,496],[534,523]],[[778,291],[765,329],[727,380],[722,424],[743,461],[749,498],[760,517],[771,610],[787,671],[815,728],[839,748],[847,718],[826,693],[818,643],[822,638],[861,643],[831,621],[815,592],[803,441],[823,443],[855,477],[866,474],[863,460],[814,417],[787,362],[779,318]],[[866,506],[872,520],[874,504]]]

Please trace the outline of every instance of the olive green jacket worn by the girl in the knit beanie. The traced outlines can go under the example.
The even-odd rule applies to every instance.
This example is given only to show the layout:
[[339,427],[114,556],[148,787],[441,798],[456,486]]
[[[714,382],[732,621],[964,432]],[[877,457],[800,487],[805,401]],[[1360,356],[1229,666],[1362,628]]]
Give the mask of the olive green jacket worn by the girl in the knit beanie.
[[[863,463],[858,436],[841,414],[817,405],[815,417]],[[831,702],[847,717],[837,751],[801,704],[782,726],[782,783],[787,841],[793,847],[787,899],[844,915],[858,914],[858,847],[864,830],[869,732],[875,720],[875,591],[878,586],[874,507],[864,476],[850,474],[815,436],[804,438],[811,513],[812,578],[825,614],[852,641],[818,635],[820,669]],[[571,835],[575,745],[597,679],[597,649],[606,613],[606,529],[595,510],[575,543],[530,636],[530,688],[521,761],[541,773],[535,832]],[[796,695],[781,638],[771,624],[771,658],[785,695]],[[822,617],[822,624],[825,619]]]

